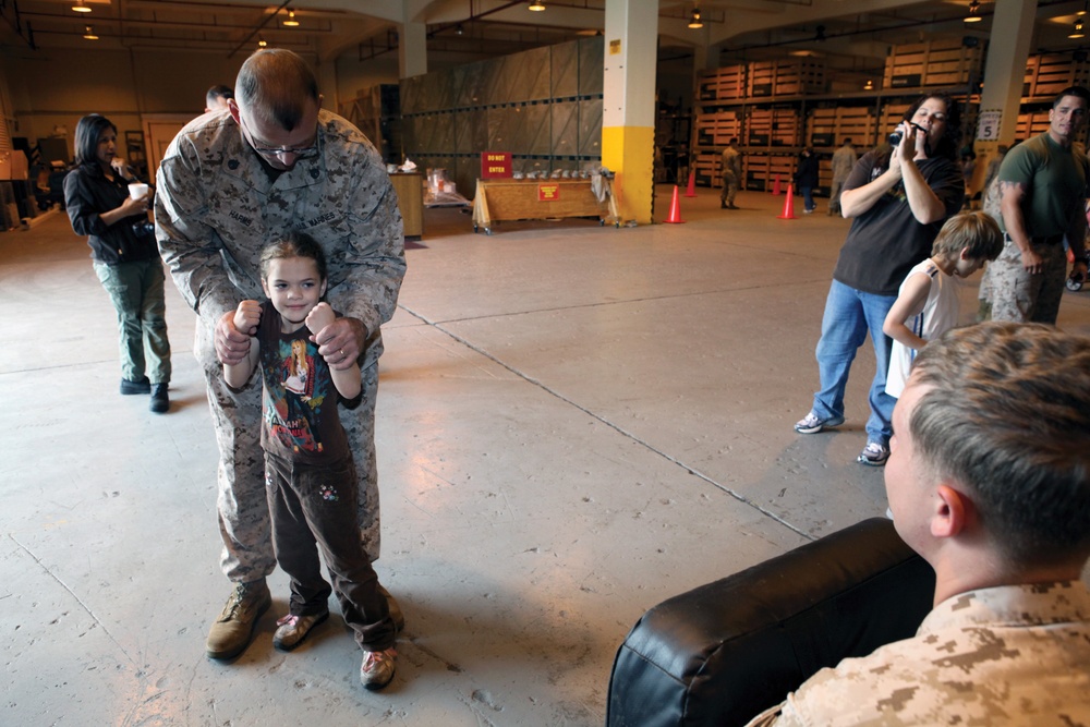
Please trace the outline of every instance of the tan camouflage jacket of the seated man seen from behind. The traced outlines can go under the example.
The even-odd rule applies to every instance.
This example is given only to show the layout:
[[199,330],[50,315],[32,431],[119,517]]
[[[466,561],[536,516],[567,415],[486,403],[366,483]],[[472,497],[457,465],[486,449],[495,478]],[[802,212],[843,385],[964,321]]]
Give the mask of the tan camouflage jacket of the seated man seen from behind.
[[750,727],[773,724],[1090,725],[1090,592],[1077,581],[947,598],[915,638],[822,669]]

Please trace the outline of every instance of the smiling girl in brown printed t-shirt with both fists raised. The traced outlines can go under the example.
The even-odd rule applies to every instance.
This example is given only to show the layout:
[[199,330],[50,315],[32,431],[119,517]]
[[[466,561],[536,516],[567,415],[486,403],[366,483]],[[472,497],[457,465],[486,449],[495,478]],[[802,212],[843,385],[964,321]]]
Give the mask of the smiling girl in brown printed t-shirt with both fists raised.
[[[287,616],[272,644],[286,651],[329,616],[337,594],[344,621],[364,651],[360,680],[382,689],[393,678],[395,625],[378,578],[360,543],[355,464],[337,413],[338,395],[360,396],[360,367],[331,369],[312,332],[336,318],[326,292],[326,259],[308,235],[292,232],[262,252],[262,287],[269,300],[242,301],[234,328],[253,336],[250,355],[225,365],[240,388],[261,362],[264,380],[262,447],[277,561],[291,578]],[[322,578],[318,550],[332,587]]]

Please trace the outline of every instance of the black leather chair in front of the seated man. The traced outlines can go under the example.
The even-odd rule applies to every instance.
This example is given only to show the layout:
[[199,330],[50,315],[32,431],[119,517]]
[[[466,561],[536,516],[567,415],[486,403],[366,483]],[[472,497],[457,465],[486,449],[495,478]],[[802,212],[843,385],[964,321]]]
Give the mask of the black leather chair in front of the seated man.
[[934,587],[874,518],[675,596],[617,652],[606,723],[744,725],[819,669],[911,637]]

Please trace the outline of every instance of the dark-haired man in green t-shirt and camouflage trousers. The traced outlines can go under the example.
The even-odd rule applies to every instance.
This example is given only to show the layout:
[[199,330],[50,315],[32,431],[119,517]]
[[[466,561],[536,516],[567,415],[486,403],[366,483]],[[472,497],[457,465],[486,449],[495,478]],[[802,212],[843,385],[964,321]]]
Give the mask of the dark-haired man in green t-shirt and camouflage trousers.
[[1000,207],[1006,245],[989,270],[993,320],[1055,325],[1067,278],[1086,278],[1090,179],[1086,152],[1076,147],[1090,111],[1090,90],[1070,86],[1049,111],[1049,130],[1010,149],[1000,167]]

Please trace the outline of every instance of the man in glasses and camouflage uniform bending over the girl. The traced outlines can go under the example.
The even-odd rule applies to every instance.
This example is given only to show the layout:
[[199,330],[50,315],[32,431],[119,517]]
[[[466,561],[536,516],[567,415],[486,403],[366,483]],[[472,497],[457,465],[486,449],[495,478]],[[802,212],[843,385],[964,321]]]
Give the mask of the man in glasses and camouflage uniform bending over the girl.
[[[219,445],[221,565],[234,584],[208,631],[206,653],[232,658],[250,644],[271,603],[276,567],[261,448],[261,387],[223,381],[250,337],[231,322],[240,300],[261,296],[261,251],[288,231],[317,241],[329,262],[329,302],[343,316],[315,335],[334,369],[359,365],[362,395],[341,412],[358,471],[364,549],[379,554],[375,400],[380,326],[404,277],[404,233],[385,165],[360,131],[320,109],[317,80],[284,49],[258,50],[239,71],[229,113],[191,121],[159,169],[159,249],[185,301],[198,314],[194,352],[208,387]],[[382,586],[379,586],[382,587]],[[385,592],[384,592],[385,594]],[[388,594],[396,623],[402,622]]]

